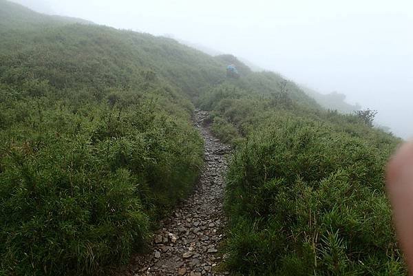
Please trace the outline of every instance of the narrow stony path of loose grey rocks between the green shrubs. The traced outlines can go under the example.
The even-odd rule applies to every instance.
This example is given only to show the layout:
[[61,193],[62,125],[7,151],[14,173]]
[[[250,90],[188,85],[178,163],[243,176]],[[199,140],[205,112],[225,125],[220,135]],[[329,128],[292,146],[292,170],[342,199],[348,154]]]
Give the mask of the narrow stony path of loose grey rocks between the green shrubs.
[[229,146],[202,124],[207,112],[195,111],[194,125],[204,138],[205,166],[193,194],[161,222],[153,251],[135,258],[129,275],[229,275],[217,273],[217,248],[224,239],[224,180]]

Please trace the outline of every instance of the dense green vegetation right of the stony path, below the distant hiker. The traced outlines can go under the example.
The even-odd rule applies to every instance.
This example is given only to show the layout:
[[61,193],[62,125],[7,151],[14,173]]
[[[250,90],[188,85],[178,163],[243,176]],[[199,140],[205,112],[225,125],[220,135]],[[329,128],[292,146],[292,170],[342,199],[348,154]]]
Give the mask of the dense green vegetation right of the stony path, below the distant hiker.
[[236,147],[226,189],[229,267],[240,275],[405,275],[383,191],[399,140],[363,116],[302,105],[290,91],[226,83],[200,99],[215,134]]

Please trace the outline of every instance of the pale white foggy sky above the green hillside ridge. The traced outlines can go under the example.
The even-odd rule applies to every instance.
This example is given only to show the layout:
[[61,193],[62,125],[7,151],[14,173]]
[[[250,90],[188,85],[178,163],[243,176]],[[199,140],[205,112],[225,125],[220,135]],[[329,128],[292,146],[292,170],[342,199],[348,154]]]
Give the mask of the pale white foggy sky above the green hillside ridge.
[[116,28],[173,34],[379,110],[413,136],[413,0],[14,0]]

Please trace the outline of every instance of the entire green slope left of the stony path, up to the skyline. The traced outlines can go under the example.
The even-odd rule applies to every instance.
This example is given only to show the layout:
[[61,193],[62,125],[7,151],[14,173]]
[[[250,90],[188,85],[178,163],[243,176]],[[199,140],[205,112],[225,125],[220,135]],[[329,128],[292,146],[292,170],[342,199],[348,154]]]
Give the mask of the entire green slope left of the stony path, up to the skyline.
[[202,167],[189,98],[224,66],[71,22],[0,1],[0,275],[127,262]]

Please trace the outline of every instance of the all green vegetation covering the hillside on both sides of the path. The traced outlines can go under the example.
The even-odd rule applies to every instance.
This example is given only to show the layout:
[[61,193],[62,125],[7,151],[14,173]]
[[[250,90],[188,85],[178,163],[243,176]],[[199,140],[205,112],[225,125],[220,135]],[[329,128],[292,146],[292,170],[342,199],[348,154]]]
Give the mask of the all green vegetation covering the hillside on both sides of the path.
[[234,56],[84,23],[0,0],[0,275],[97,275],[145,248],[202,167],[193,103],[235,147],[235,274],[405,275],[383,193],[398,139]]

